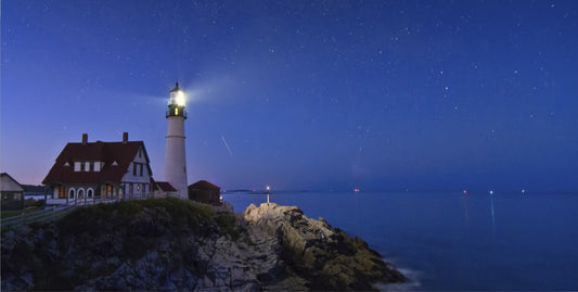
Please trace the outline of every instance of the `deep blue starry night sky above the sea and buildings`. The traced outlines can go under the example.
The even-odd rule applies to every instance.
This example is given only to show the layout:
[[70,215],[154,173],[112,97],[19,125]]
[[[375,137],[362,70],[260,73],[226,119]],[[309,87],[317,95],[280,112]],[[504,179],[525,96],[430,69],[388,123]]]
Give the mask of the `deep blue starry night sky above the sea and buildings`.
[[578,1],[1,2],[0,167],[143,140],[187,93],[189,182],[578,190]]

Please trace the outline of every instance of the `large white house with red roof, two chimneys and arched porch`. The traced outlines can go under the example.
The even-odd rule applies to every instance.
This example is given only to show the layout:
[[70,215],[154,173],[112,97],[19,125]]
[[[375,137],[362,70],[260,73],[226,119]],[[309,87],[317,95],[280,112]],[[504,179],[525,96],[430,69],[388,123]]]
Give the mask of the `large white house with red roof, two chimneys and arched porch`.
[[82,204],[151,193],[152,172],[142,141],[67,143],[42,181],[47,204]]

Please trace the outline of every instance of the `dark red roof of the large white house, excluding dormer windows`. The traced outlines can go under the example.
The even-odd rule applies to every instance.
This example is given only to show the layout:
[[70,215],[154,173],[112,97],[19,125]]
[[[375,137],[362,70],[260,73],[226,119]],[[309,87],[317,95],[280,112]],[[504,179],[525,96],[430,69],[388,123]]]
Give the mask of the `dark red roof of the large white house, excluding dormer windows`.
[[[152,174],[142,141],[67,143],[42,183],[119,183],[140,148]],[[100,172],[74,172],[74,162],[104,162],[104,165]]]

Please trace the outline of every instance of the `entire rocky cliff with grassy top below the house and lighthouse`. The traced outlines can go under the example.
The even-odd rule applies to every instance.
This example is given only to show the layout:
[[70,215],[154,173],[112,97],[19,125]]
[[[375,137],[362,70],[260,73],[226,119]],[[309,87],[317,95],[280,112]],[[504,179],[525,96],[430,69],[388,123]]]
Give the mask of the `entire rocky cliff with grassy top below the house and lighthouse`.
[[232,214],[178,199],[81,207],[2,233],[2,291],[369,290],[403,276],[297,207]]

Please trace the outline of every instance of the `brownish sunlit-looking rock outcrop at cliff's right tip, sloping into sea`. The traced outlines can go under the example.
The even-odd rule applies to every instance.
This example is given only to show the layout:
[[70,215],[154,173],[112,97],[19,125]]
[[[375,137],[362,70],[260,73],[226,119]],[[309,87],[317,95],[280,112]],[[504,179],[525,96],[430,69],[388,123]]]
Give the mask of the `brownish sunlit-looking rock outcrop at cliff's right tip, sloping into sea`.
[[364,241],[351,239],[325,220],[307,218],[298,207],[252,204],[243,215],[247,223],[261,229],[260,236],[277,237],[281,258],[291,271],[308,281],[309,288],[368,290],[377,281],[404,280]]

